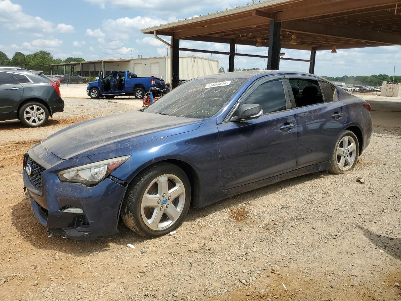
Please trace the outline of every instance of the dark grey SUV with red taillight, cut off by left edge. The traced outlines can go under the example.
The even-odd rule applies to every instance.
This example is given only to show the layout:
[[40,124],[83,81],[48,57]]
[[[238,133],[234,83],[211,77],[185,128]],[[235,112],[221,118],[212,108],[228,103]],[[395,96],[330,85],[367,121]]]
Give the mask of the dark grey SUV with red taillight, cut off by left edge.
[[42,71],[0,66],[0,121],[19,119],[36,128],[63,110],[57,83]]

